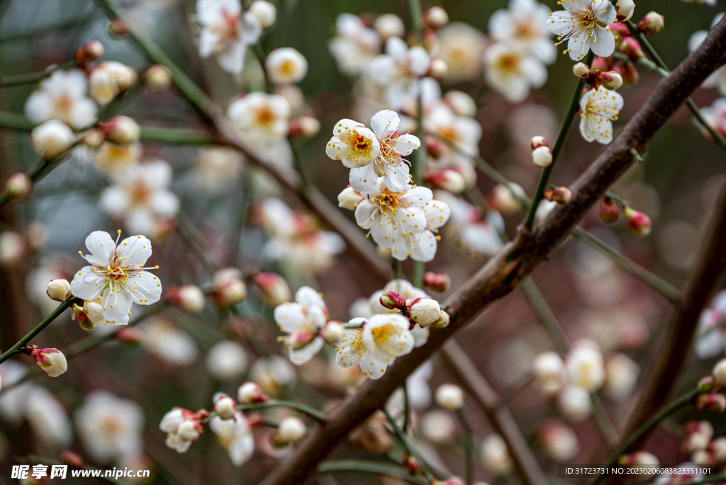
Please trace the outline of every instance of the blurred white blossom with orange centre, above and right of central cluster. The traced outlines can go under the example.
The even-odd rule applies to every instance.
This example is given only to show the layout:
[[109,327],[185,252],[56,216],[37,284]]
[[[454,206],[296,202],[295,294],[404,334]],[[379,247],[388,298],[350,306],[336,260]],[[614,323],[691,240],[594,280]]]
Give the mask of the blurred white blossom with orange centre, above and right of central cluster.
[[368,70],[383,87],[388,105],[397,110],[417,97],[418,81],[428,72],[431,57],[422,46],[409,48],[398,37],[386,41],[385,52],[370,62]]

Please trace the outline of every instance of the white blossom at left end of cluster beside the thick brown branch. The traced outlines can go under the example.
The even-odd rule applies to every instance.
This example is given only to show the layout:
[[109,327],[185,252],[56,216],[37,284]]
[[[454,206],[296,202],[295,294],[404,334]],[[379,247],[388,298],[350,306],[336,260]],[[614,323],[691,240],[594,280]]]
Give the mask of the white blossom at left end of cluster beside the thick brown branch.
[[309,286],[303,286],[295,293],[293,303],[277,306],[274,321],[287,333],[282,341],[293,364],[308,362],[322,349],[325,342],[318,332],[327,323],[327,306],[319,293]]

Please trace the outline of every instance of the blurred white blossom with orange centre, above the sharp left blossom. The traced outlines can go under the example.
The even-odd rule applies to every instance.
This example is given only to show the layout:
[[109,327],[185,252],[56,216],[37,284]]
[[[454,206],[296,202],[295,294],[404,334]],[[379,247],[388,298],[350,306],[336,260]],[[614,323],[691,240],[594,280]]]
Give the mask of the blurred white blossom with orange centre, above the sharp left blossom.
[[169,190],[172,176],[163,160],[133,166],[101,192],[101,208],[123,219],[131,232],[153,232],[159,217],[173,218],[179,210],[179,199]]

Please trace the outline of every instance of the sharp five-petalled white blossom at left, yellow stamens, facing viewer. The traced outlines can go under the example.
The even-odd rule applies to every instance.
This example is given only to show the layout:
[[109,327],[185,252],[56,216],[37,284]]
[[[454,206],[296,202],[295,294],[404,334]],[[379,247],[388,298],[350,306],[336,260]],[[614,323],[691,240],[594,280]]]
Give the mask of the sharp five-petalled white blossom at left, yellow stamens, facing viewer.
[[[76,273],[70,282],[73,296],[101,304],[103,316],[113,325],[126,325],[131,305],[150,305],[161,297],[161,282],[144,264],[151,256],[151,241],[144,236],[126,237],[121,231],[114,241],[104,231],[91,232],[83,256],[90,263]],[[158,266],[155,266],[158,268]]]

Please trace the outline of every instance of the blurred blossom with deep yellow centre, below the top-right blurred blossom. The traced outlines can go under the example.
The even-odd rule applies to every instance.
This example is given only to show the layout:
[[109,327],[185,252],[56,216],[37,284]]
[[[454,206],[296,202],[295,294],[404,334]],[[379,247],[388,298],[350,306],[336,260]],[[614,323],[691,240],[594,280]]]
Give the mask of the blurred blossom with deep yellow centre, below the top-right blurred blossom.
[[547,68],[539,58],[505,41],[484,51],[484,73],[489,86],[514,103],[522,102],[530,89],[547,81]]

